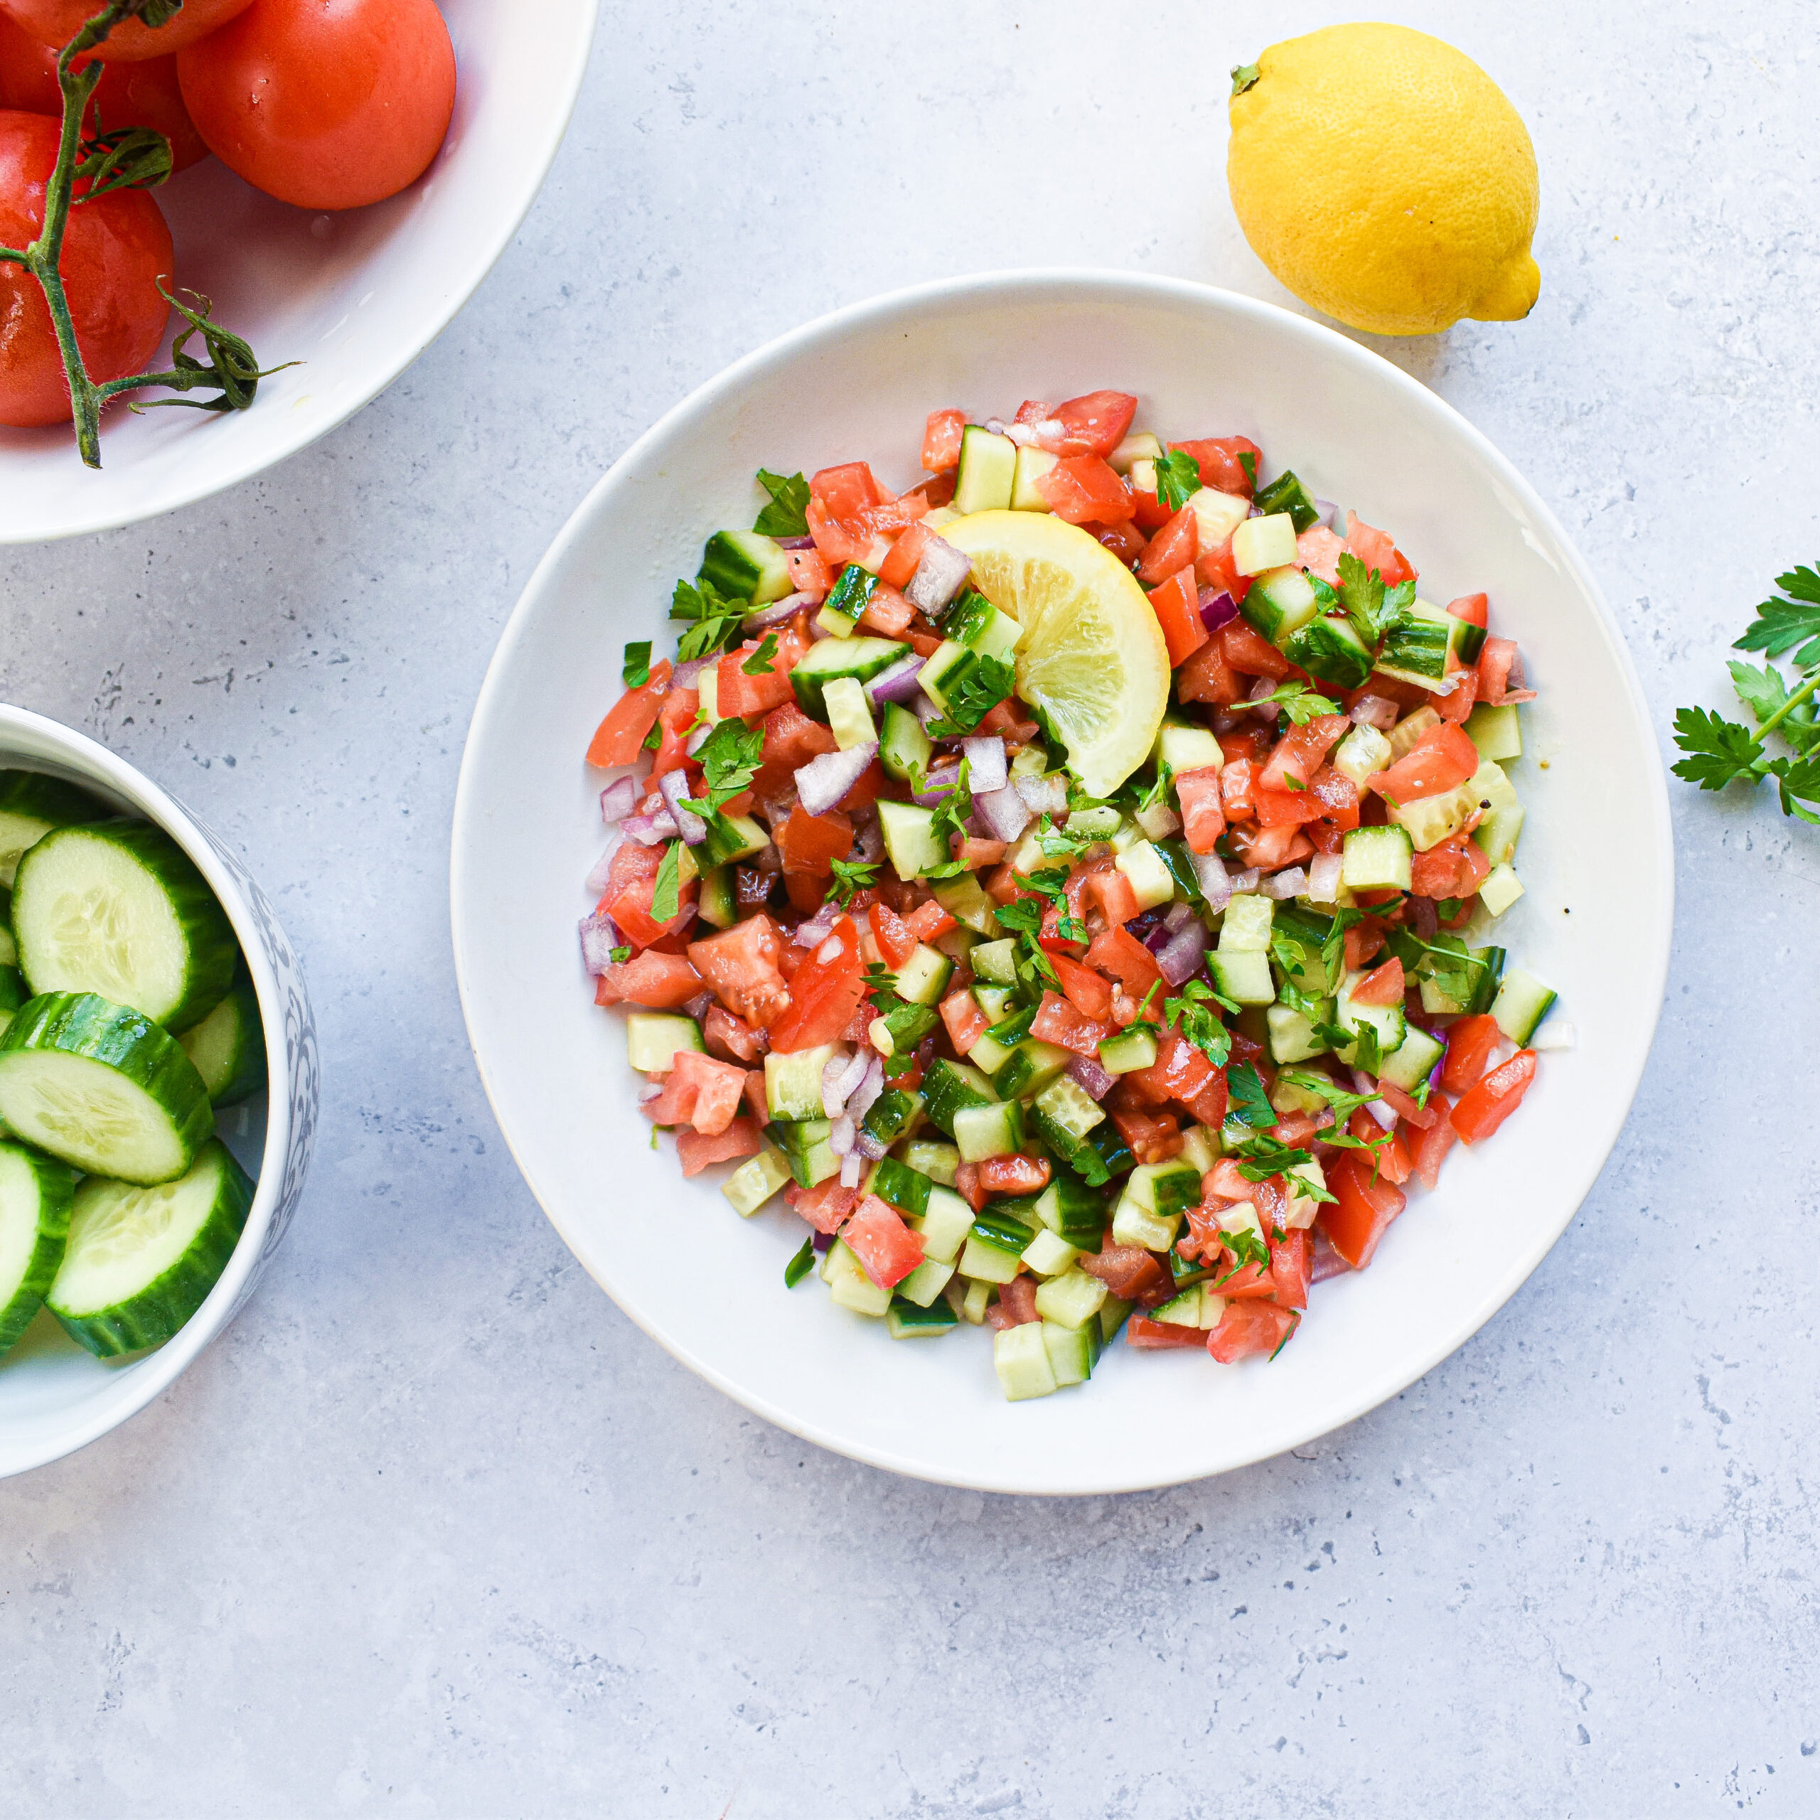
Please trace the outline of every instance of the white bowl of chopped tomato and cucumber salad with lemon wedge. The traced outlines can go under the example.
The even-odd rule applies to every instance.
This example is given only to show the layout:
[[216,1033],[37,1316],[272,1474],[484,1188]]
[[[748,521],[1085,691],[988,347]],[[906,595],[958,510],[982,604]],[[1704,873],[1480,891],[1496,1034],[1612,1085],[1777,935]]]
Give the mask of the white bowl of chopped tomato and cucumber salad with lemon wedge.
[[475,1054],[588,1270],[772,1421],[1019,1492],[1243,1465],[1465,1341],[1616,1139],[1671,890],[1509,462],[1105,273],[677,406],[526,590],[455,812]]

